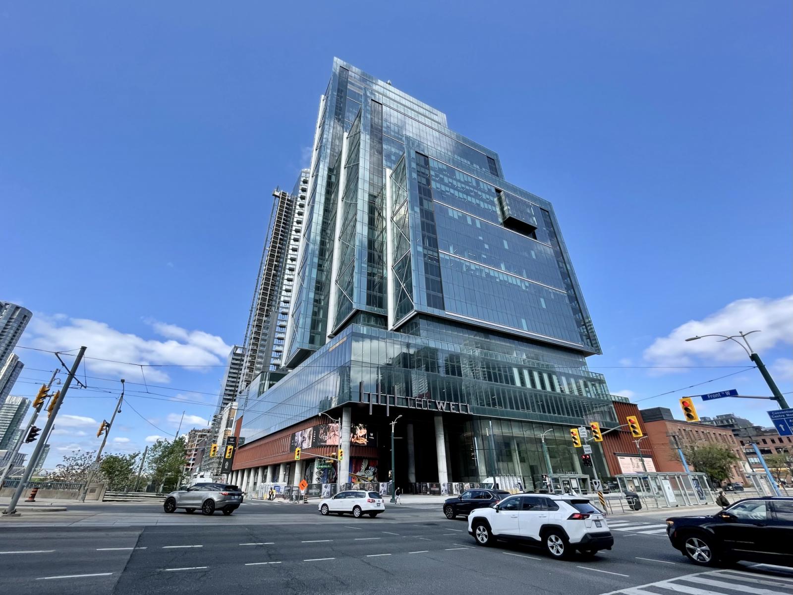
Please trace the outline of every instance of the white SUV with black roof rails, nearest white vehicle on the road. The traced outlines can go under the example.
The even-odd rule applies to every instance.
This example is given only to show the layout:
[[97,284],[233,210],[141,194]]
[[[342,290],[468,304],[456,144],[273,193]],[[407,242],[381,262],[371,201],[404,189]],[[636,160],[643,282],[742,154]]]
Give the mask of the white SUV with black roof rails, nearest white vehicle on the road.
[[567,494],[504,498],[497,505],[473,510],[468,532],[478,545],[491,545],[496,539],[533,543],[557,559],[567,558],[574,550],[595,555],[614,545],[603,513],[588,499]]

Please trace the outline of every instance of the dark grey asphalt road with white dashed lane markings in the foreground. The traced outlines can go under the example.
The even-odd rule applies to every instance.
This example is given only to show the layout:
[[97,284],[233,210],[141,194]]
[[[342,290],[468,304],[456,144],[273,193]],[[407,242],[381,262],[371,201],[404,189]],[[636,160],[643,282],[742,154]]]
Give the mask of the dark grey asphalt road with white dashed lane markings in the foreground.
[[[0,592],[793,595],[793,574],[691,565],[669,546],[664,512],[613,518],[612,551],[568,561],[531,547],[477,547],[465,520],[432,508],[391,507],[356,520],[320,516],[316,506],[262,503],[230,517],[168,516],[180,514],[190,524],[0,525]],[[267,518],[273,522],[244,522]]]

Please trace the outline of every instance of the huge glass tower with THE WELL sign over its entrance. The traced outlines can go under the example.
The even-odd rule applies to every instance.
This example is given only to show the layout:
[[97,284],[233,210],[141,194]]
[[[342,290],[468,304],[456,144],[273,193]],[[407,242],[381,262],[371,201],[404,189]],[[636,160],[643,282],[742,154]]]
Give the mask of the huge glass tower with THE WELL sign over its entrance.
[[[438,109],[339,59],[313,148],[304,232],[289,248],[279,364],[290,371],[273,385],[246,367],[233,481],[393,471],[407,489],[538,486],[545,432],[554,473],[585,482],[569,428],[618,426],[613,404],[626,399],[587,368],[600,345],[550,202],[508,182],[499,155]],[[338,464],[313,456],[339,447]]]

